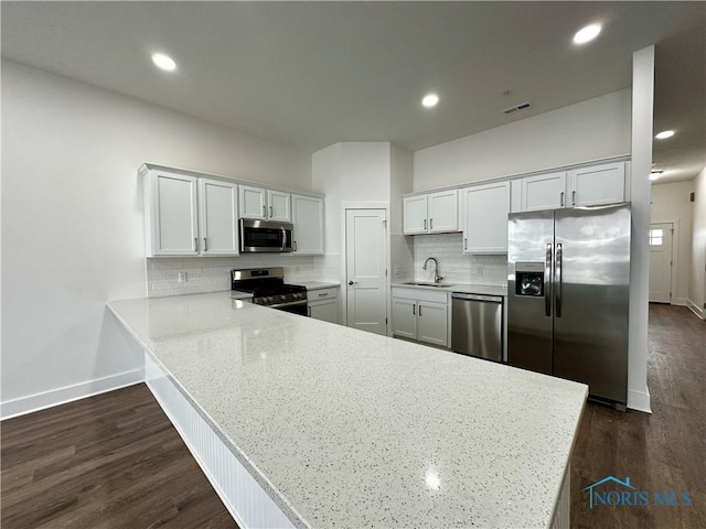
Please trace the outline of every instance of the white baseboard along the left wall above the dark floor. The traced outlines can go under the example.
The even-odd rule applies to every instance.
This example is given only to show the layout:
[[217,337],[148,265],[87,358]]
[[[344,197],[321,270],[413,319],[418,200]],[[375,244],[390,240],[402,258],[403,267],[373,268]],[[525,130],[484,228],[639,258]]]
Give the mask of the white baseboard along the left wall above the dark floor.
[[53,408],[55,406],[73,402],[74,400],[85,399],[94,395],[105,393],[115,389],[125,388],[135,384],[145,381],[145,368],[135,369],[132,371],[119,373],[109,377],[88,380],[86,382],[66,386],[64,388],[52,389],[42,393],[20,397],[19,399],[8,400],[0,404],[0,420],[11,419],[13,417],[24,415],[34,411]]

